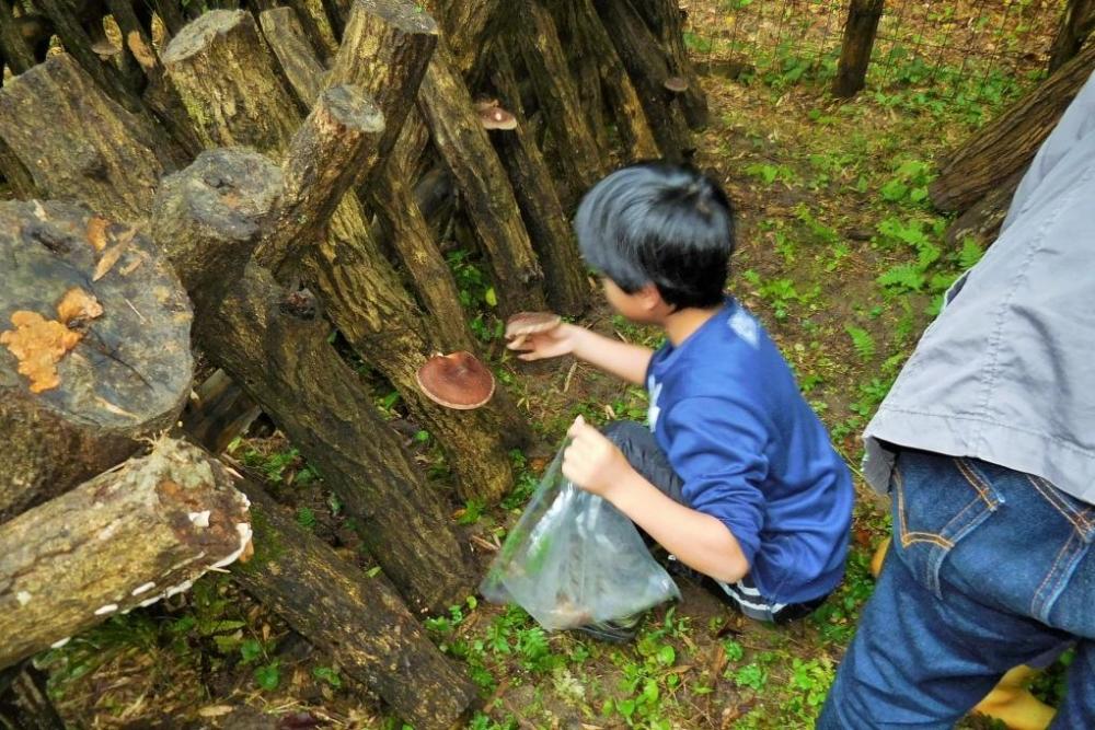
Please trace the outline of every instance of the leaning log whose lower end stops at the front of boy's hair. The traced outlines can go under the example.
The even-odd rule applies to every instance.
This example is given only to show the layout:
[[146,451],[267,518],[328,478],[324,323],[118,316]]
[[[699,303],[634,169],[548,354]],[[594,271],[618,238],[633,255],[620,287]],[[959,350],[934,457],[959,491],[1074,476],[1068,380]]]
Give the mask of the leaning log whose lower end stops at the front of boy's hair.
[[525,3],[514,22],[515,38],[511,43],[525,61],[540,108],[544,112],[552,154],[557,158],[561,167],[558,178],[569,183],[568,189],[560,193],[564,205],[569,208],[604,174],[608,150],[598,148],[589,131],[555,22],[540,0]]

